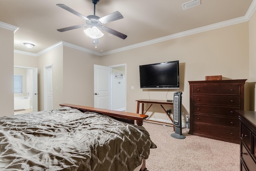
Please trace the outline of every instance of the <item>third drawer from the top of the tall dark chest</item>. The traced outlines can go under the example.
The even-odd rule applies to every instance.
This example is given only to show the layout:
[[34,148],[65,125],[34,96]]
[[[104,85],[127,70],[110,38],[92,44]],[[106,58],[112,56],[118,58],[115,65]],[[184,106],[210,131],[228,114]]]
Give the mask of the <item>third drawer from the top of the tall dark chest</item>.
[[238,113],[236,112],[236,110],[240,110],[240,107],[193,105],[193,113],[205,113],[205,114],[213,114],[213,115],[238,117]]

